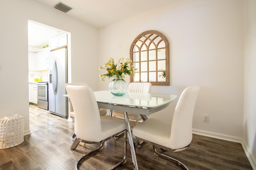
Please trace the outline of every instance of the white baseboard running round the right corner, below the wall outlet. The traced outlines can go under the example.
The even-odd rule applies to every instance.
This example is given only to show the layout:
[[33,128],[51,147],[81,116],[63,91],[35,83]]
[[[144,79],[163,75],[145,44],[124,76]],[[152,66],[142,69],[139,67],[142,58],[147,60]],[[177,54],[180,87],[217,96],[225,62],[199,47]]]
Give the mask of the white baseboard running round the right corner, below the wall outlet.
[[244,149],[244,152],[252,166],[252,169],[256,170],[256,159],[242,138],[231,136],[231,135],[224,135],[221,133],[214,133],[214,132],[210,132],[210,131],[202,131],[199,129],[192,129],[192,132],[197,135],[202,135],[202,136],[212,137],[212,138],[216,138],[216,139],[222,139],[225,141],[241,143],[241,145]]

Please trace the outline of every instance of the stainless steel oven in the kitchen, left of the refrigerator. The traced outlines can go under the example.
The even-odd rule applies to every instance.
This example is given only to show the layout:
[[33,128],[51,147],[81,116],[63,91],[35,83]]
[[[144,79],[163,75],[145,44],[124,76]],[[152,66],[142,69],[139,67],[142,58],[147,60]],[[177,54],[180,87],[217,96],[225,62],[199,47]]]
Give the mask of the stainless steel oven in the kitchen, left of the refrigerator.
[[37,106],[48,110],[48,82],[37,83]]

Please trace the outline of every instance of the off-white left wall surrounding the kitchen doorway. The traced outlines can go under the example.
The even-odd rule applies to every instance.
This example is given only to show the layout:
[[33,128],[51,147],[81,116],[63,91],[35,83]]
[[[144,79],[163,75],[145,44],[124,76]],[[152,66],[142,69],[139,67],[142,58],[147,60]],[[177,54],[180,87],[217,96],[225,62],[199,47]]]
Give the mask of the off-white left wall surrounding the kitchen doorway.
[[93,90],[98,87],[97,29],[34,0],[1,0],[1,6],[0,118],[14,113],[24,116],[27,134],[28,20],[71,33],[72,81],[88,82]]

